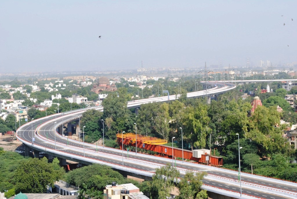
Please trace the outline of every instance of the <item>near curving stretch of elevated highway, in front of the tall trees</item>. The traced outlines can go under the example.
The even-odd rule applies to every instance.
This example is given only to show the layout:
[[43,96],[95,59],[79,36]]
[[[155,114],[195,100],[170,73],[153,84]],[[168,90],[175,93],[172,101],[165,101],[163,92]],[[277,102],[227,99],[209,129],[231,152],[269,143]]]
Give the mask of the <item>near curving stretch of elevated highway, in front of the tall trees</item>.
[[[218,92],[222,92],[222,90]],[[102,110],[102,107],[91,108]],[[79,117],[87,109],[90,108],[33,120],[17,130],[17,137],[25,144],[26,150],[33,149],[35,154],[45,152],[52,156],[74,160],[86,165],[91,163],[105,164],[124,175],[143,179],[150,179],[155,168],[166,163],[173,163],[168,158],[135,154],[133,152],[129,153],[128,158],[127,151],[68,139],[66,136],[61,135],[61,131],[60,133],[57,132],[59,126],[66,122],[79,120]],[[230,198],[297,198],[297,184],[294,182],[241,173],[242,196],[240,196],[240,183],[236,171],[195,163],[183,163],[179,160],[176,160],[175,164],[182,175],[188,170],[194,172],[206,171],[208,176],[203,180],[203,189]]]

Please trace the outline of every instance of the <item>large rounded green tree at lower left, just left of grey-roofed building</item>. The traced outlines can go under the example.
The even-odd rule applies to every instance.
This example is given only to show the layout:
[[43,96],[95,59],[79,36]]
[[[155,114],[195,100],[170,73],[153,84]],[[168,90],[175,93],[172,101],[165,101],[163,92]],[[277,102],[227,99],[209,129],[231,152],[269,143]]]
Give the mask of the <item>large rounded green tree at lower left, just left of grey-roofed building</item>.
[[55,175],[53,165],[43,157],[28,159],[21,164],[15,172],[16,192],[43,193],[47,185],[53,186]]

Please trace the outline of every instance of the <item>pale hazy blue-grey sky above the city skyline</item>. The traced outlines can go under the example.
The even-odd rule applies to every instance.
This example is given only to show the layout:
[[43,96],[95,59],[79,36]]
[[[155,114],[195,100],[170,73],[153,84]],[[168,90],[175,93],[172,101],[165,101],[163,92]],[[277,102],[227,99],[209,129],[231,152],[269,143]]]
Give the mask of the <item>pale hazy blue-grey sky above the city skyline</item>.
[[296,0],[1,0],[0,73],[295,62],[296,9]]

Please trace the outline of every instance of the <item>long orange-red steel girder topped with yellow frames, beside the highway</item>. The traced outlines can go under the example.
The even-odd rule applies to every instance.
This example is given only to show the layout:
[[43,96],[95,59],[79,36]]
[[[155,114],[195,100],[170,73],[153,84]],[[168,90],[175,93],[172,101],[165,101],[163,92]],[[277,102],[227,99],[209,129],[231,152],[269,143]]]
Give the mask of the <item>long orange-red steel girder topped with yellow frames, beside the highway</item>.
[[[122,136],[123,135],[123,136]],[[122,149],[122,141],[126,146],[136,147],[136,135],[135,133],[118,133],[117,135],[120,149]],[[153,138],[149,136],[137,135],[137,148],[154,151],[159,154],[182,158],[184,152],[184,159],[194,160],[199,163],[210,164],[214,166],[223,166],[223,158],[219,156],[201,154],[201,157],[193,157],[193,152],[190,150],[182,150],[176,147],[170,147],[162,144],[166,144],[167,141],[159,138]]]

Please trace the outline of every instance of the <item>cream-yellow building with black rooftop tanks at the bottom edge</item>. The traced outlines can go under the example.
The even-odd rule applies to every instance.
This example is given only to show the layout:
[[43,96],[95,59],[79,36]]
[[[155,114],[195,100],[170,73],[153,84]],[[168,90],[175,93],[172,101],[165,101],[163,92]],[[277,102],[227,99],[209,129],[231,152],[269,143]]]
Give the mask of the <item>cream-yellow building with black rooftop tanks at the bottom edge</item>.
[[104,199],[149,199],[132,183],[106,185],[103,190]]

